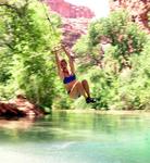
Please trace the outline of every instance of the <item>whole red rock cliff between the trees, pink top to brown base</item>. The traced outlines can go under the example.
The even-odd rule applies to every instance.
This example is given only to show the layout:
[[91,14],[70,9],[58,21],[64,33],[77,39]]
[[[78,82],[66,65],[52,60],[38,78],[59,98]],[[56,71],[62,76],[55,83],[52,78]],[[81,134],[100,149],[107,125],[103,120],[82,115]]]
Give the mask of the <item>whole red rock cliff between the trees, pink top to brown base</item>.
[[64,0],[48,0],[48,5],[63,20],[62,42],[72,48],[82,35],[87,33],[87,27],[95,13],[87,7],[74,5]]

